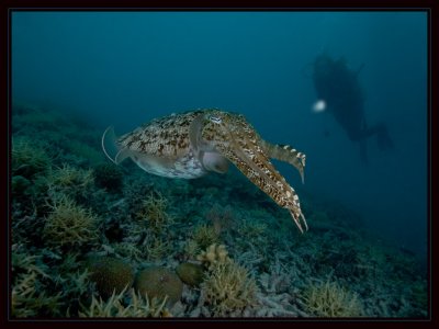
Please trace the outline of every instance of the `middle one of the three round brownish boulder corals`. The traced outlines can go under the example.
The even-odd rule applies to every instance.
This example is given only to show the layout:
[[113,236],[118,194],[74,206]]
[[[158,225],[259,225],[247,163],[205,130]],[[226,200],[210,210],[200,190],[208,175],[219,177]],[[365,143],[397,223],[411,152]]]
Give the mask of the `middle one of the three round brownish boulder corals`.
[[178,275],[167,268],[151,266],[137,273],[134,287],[142,295],[159,299],[168,297],[167,305],[172,306],[180,300],[183,284]]

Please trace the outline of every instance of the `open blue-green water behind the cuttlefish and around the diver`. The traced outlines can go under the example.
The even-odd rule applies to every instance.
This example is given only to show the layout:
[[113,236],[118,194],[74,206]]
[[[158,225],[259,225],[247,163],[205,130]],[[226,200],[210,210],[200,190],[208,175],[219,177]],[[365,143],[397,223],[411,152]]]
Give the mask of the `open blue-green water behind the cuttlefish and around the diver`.
[[[312,111],[323,52],[364,65],[368,122],[386,122],[396,146],[382,152],[371,140],[369,166],[333,117]],[[14,99],[78,112],[99,129],[198,107],[243,113],[264,139],[306,154],[307,192],[426,252],[425,12],[14,12],[11,54]]]

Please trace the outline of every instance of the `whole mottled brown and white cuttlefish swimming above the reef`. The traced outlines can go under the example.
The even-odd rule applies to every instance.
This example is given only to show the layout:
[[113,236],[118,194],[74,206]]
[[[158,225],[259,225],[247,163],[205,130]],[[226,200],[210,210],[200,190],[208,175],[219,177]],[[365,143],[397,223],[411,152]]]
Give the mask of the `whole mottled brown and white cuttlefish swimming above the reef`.
[[198,110],[171,114],[125,134],[108,127],[102,148],[114,163],[131,158],[143,170],[167,178],[195,179],[210,171],[224,173],[235,164],[279,206],[286,208],[303,232],[307,224],[294,189],[270,158],[294,166],[304,179],[305,155],[289,145],[263,140],[240,114]]

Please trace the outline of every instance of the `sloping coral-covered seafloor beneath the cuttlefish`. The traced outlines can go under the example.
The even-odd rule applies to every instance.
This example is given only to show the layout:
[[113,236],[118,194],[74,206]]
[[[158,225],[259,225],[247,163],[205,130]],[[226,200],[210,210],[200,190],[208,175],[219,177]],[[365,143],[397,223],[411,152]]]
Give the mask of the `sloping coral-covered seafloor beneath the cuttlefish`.
[[354,212],[299,190],[300,234],[240,172],[170,180],[101,129],[12,110],[10,316],[426,318],[427,271]]

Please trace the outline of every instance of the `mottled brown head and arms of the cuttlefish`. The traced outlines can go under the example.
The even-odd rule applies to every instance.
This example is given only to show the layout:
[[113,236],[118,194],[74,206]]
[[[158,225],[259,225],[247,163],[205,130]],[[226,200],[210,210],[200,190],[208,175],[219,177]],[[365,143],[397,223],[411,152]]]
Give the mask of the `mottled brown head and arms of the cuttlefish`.
[[[210,117],[213,121],[212,124],[205,126],[203,137],[207,140],[212,139],[216,151],[234,163],[279,206],[286,208],[301,232],[307,230],[297,194],[269,159],[270,156],[285,159],[303,172],[304,162],[301,164],[301,160],[296,159],[304,159],[304,157],[293,156],[291,151],[286,156],[286,150],[279,150],[281,147],[261,143],[262,139],[241,115],[226,113],[222,116],[222,113],[216,113]],[[216,135],[212,136],[214,134]]]

